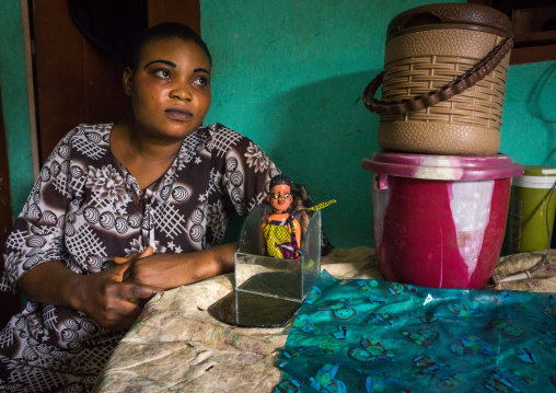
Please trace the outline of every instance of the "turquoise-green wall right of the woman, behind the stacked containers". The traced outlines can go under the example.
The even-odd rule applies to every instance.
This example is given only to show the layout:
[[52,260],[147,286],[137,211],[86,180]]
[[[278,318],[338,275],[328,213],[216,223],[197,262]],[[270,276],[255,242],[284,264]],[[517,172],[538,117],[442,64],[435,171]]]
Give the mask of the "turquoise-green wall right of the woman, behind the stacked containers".
[[[219,122],[255,140],[323,211],[336,246],[373,245],[370,175],[379,116],[361,93],[382,70],[387,23],[441,1],[201,0],[201,32],[213,57]],[[501,151],[556,165],[555,62],[512,66]],[[551,79],[552,77],[552,79]]]

